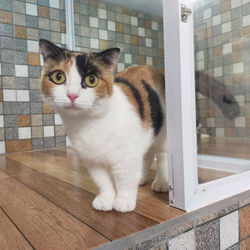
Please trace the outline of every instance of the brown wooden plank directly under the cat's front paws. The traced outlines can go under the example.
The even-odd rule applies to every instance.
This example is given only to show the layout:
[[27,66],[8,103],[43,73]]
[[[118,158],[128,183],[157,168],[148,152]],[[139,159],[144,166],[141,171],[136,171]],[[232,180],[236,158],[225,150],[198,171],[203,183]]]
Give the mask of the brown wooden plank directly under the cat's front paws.
[[157,224],[134,212],[96,211],[92,208],[95,195],[47,174],[38,172],[29,177],[16,178],[111,240]]

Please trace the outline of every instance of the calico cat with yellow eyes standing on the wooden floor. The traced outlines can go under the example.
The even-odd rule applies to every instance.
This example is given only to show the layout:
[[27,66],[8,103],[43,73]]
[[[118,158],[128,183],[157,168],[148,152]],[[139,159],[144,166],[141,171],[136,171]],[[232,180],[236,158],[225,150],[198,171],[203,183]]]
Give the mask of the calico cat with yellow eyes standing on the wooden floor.
[[79,161],[99,188],[97,210],[134,210],[157,156],[152,183],[168,190],[164,76],[131,66],[113,77],[120,49],[74,53],[41,39],[42,93],[62,117]]

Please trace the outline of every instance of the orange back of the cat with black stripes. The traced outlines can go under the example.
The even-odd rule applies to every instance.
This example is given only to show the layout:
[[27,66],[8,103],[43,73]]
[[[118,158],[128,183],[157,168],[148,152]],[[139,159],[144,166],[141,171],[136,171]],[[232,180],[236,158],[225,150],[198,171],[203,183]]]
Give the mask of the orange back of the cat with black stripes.
[[131,66],[117,74],[118,86],[134,107],[142,125],[157,135],[164,123],[164,75],[151,66]]

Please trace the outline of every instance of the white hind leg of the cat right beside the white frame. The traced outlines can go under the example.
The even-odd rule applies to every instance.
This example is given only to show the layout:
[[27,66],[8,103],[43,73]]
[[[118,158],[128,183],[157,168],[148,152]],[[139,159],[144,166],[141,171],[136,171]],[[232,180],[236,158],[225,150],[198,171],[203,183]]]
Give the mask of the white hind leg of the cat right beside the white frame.
[[167,143],[166,139],[160,139],[156,143],[157,170],[152,183],[155,192],[168,191],[168,165],[167,165]]

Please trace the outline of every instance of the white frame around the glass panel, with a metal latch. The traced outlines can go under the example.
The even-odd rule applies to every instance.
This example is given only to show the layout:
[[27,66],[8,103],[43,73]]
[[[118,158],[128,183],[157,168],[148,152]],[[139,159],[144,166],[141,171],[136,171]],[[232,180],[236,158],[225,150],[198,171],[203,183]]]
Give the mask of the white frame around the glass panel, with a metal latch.
[[198,184],[193,19],[181,22],[181,4],[163,0],[169,202],[189,212],[250,190],[250,171]]

